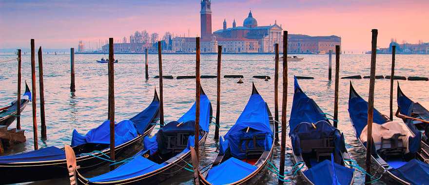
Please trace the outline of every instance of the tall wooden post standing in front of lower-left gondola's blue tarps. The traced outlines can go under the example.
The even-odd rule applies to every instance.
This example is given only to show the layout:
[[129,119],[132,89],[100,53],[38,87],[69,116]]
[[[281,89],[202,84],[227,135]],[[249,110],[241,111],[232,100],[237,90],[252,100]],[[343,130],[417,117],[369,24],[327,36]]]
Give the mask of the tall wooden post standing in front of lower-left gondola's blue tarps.
[[[113,38],[109,38],[109,121],[110,121],[110,160],[115,161],[115,57]],[[115,169],[115,166],[110,166]]]

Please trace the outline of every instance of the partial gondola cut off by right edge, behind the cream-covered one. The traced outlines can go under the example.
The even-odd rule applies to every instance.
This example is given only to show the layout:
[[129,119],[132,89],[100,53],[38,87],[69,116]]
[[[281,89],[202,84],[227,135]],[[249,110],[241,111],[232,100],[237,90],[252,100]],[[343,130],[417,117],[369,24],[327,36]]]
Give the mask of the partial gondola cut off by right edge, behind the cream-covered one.
[[[420,103],[413,102],[411,99],[409,99],[409,97],[407,97],[399,87],[399,82],[398,82],[398,90],[397,90],[396,98],[398,102],[399,111],[401,114],[404,114],[413,118],[429,121],[429,111],[426,108],[424,108]],[[403,119],[403,120],[405,123],[407,123],[410,129],[416,129],[420,132],[423,132],[423,141],[425,141],[426,144],[429,144],[429,124],[418,120],[412,120],[412,119]]]

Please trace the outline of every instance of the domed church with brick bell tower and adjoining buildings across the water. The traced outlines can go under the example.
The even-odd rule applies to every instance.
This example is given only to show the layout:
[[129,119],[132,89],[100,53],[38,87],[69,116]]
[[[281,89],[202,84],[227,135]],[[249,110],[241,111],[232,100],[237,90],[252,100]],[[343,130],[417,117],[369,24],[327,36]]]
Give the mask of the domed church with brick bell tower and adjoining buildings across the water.
[[[224,53],[273,53],[274,44],[279,44],[279,51],[283,51],[283,39],[281,25],[275,21],[273,25],[258,26],[252,11],[243,21],[243,26],[227,28],[226,19],[223,21],[223,29],[212,33],[211,0],[201,0],[201,35],[200,49],[202,53],[216,53],[217,46],[222,46]],[[337,36],[311,37],[306,35],[289,35],[288,52],[314,53],[334,50],[335,45],[341,44],[341,38]],[[195,37],[173,38],[172,50],[174,52],[194,52]]]

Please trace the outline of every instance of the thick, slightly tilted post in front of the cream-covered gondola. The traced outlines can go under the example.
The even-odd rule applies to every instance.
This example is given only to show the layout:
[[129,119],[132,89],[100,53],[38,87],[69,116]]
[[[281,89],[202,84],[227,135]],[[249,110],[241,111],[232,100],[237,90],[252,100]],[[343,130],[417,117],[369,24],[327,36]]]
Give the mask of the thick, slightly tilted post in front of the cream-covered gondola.
[[[374,109],[374,85],[375,85],[375,56],[377,55],[377,36],[378,30],[372,30],[372,46],[371,46],[371,76],[370,76],[370,93],[368,97],[368,132],[367,132],[367,175],[365,175],[365,183],[370,184],[371,176],[371,149],[372,149],[372,115]],[[392,76],[393,78],[393,76]]]

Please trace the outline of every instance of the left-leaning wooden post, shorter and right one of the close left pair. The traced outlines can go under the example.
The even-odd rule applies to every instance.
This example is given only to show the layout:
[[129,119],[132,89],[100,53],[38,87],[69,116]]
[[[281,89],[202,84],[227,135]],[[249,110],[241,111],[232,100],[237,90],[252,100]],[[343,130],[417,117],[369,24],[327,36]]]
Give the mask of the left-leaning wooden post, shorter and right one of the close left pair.
[[39,92],[40,92],[40,136],[46,139],[46,120],[45,120],[45,96],[43,90],[43,61],[42,47],[39,47],[37,52],[39,59]]

